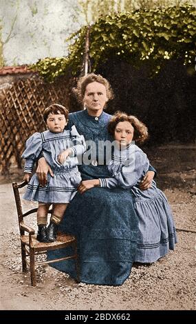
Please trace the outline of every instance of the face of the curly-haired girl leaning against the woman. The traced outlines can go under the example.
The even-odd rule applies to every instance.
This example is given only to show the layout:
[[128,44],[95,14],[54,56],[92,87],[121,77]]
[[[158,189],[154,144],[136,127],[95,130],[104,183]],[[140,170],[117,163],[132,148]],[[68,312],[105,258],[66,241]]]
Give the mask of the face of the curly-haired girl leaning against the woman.
[[129,121],[120,121],[115,128],[114,139],[116,139],[120,148],[125,148],[131,143],[133,134],[134,128],[131,123],[129,123]]

